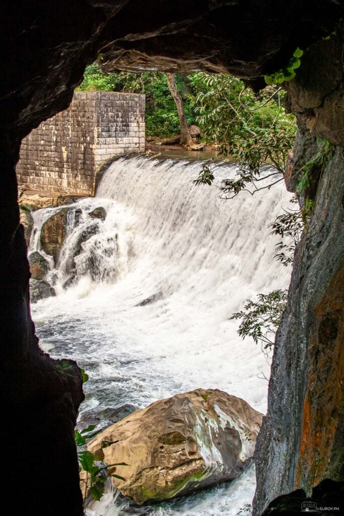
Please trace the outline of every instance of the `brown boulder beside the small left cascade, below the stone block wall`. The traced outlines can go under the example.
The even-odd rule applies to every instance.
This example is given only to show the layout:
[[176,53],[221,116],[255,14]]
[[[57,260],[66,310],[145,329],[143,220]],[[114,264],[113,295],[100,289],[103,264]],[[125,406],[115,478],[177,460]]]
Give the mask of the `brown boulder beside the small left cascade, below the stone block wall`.
[[61,208],[54,212],[41,228],[40,243],[46,254],[53,256],[55,264],[65,237],[67,236],[67,215],[72,208]]

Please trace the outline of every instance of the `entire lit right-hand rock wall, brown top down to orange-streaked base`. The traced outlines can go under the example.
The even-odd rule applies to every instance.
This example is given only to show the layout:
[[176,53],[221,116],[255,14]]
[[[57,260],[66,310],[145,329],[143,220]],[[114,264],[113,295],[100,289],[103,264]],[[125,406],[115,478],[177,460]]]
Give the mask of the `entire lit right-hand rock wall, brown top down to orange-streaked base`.
[[[299,488],[310,495],[324,478],[344,477],[342,48],[340,34],[315,45],[288,88],[300,127],[290,163],[291,190],[296,190],[305,163],[319,152],[307,126],[341,147],[331,151],[324,170],[313,170],[306,192],[314,213],[295,255],[288,304],[276,335],[268,414],[256,448],[255,514],[276,496]],[[314,70],[316,61],[314,76],[309,67]]]

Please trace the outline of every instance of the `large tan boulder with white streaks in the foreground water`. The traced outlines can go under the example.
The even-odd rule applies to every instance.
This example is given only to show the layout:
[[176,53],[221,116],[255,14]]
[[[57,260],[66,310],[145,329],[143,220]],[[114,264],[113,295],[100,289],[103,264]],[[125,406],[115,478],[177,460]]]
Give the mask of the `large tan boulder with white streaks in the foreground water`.
[[133,412],[88,449],[141,505],[236,478],[252,462],[262,417],[240,398],[197,389]]

